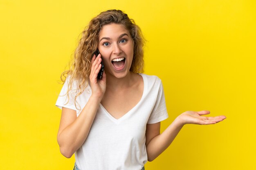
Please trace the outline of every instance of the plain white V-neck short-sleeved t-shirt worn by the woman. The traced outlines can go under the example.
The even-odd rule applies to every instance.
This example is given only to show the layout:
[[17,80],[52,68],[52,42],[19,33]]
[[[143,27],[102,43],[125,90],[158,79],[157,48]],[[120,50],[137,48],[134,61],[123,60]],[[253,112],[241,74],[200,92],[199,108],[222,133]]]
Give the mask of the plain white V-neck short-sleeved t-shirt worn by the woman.
[[[146,124],[165,120],[168,113],[161,80],[157,76],[140,75],[144,81],[143,95],[137,105],[124,116],[116,119],[99,105],[90,133],[75,153],[76,165],[80,170],[141,170],[147,162]],[[65,105],[67,81],[68,78],[56,106],[74,109],[79,116],[81,110],[74,105],[76,90],[70,92],[70,100]],[[82,109],[90,96],[88,85],[76,98]]]

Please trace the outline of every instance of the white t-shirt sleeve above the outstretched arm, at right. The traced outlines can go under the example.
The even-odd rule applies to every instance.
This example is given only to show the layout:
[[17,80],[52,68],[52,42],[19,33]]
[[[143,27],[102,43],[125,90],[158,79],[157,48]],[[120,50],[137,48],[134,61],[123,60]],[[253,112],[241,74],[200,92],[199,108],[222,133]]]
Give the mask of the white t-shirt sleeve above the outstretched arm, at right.
[[155,102],[155,106],[149,116],[147,124],[153,124],[157,122],[161,122],[168,118],[168,113],[166,109],[165,97],[164,97],[164,89],[162,82],[159,86],[159,91],[157,94],[157,100]]

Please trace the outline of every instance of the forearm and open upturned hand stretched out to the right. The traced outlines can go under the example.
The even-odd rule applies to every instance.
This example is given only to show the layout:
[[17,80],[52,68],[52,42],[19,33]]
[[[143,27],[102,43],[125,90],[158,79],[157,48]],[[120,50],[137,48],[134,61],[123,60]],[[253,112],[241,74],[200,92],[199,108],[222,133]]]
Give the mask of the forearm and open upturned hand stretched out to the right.
[[226,118],[225,116],[202,116],[209,113],[210,111],[186,111],[178,116],[163,133],[155,136],[146,145],[148,161],[153,161],[162,152],[164,152],[164,150],[166,150],[166,148],[170,146],[170,144],[173,142],[173,140],[185,124],[216,124]]

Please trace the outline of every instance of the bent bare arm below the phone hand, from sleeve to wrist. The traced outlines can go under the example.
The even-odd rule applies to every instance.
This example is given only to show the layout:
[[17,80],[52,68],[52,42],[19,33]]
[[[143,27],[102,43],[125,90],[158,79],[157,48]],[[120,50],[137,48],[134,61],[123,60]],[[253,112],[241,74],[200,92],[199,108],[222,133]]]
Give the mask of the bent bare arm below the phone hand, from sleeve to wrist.
[[76,111],[65,107],[62,108],[57,141],[61,154],[65,157],[72,157],[87,138],[99,107],[99,102],[96,98],[91,97],[77,118]]

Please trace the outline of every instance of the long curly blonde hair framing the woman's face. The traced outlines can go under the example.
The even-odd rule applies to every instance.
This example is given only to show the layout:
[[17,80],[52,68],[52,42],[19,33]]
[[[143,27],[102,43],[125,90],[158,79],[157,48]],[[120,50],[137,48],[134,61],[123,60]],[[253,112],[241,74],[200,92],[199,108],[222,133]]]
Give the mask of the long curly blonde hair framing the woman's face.
[[[144,44],[145,39],[141,33],[141,29],[137,26],[134,20],[130,19],[126,13],[121,10],[108,10],[101,12],[97,17],[92,18],[88,26],[85,27],[81,33],[82,37],[79,40],[79,45],[74,52],[74,59],[71,61],[69,70],[61,74],[61,81],[65,82],[69,76],[68,89],[67,89],[67,102],[69,101],[69,92],[73,88],[74,81],[77,82],[78,93],[74,97],[76,106],[76,98],[83,93],[89,83],[89,76],[91,72],[91,58],[97,50],[99,32],[104,25],[107,24],[122,24],[129,31],[132,40],[134,41],[134,51],[131,72],[142,73],[144,72]],[[76,107],[77,109],[77,107]]]

